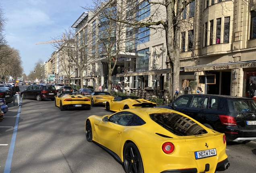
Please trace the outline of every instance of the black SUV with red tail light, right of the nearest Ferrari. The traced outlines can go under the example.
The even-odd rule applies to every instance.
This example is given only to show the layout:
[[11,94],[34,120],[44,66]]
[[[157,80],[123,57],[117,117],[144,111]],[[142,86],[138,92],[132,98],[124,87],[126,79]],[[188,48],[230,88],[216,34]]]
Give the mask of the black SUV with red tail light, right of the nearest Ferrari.
[[225,95],[182,95],[168,106],[204,126],[225,133],[227,141],[256,140],[256,103],[253,99]]

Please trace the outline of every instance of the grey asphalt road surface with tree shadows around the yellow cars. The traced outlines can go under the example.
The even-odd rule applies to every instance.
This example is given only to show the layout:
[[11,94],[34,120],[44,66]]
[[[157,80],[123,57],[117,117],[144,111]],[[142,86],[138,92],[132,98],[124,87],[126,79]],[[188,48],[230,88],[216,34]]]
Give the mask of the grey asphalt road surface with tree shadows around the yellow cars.
[[[109,153],[85,139],[86,118],[109,114],[104,107],[60,111],[54,101],[32,99],[8,107],[0,123],[0,173],[125,172]],[[256,141],[228,143],[226,152],[231,166],[225,173],[255,172]]]

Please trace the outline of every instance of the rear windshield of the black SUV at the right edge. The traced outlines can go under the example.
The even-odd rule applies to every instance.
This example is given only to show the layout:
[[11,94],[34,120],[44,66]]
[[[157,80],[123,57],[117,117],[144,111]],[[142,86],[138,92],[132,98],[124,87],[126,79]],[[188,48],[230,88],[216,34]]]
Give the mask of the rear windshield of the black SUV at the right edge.
[[230,99],[231,111],[256,113],[256,103],[252,100]]

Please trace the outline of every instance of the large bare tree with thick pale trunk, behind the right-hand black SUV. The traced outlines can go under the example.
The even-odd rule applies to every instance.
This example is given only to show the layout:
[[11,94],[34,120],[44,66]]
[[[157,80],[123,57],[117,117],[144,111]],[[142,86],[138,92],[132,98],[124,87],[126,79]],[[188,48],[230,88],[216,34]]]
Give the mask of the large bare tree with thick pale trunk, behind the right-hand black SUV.
[[[115,15],[105,13],[108,20],[124,23],[134,28],[147,27],[155,30],[165,30],[165,38],[167,44],[167,56],[171,65],[171,97],[175,93],[175,89],[179,87],[180,76],[180,34],[182,27],[182,12],[194,0],[94,0],[96,8],[101,8],[100,4],[115,4]],[[151,15],[146,18],[138,19],[136,13],[142,3],[151,4]],[[127,16],[124,17],[125,9],[130,9]],[[140,9],[143,10],[143,9]]]

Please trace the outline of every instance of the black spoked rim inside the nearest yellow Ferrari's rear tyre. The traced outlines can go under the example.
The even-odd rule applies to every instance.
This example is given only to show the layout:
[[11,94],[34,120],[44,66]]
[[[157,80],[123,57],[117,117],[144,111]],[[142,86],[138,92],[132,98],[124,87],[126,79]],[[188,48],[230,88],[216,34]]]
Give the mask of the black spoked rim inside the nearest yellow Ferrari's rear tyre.
[[128,173],[138,173],[139,165],[138,153],[130,146],[124,153],[124,167]]

